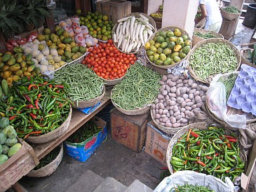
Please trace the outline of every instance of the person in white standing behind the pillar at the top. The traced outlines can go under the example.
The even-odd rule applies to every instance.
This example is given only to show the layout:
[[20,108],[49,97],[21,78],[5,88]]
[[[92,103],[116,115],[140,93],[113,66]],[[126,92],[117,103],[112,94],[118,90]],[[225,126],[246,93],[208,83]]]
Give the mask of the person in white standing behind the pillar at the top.
[[206,18],[204,29],[219,32],[222,24],[221,11],[216,0],[199,0],[201,17],[195,18],[195,24]]

